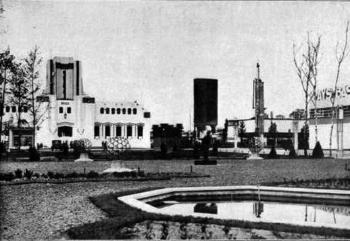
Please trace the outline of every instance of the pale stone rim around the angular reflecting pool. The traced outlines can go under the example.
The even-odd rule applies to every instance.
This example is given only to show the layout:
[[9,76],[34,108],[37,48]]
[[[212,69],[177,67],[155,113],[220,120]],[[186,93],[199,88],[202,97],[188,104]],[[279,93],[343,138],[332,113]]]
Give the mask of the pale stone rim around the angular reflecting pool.
[[[305,198],[322,198],[328,197],[329,199],[341,199],[342,201],[349,201],[350,203],[350,190],[330,190],[330,189],[311,189],[311,188],[290,188],[290,187],[270,187],[270,186],[252,186],[252,185],[244,185],[244,186],[208,186],[208,187],[176,187],[176,188],[162,188],[147,192],[141,192],[131,195],[126,195],[122,197],[118,197],[118,200],[123,203],[132,206],[137,209],[141,209],[142,211],[149,213],[156,213],[161,215],[170,215],[170,216],[193,216],[193,217],[210,217],[214,219],[222,219],[222,220],[234,220],[232,218],[217,218],[215,216],[208,216],[200,213],[192,213],[189,215],[181,215],[176,212],[169,212],[166,210],[162,210],[156,208],[150,204],[147,204],[146,201],[150,201],[152,199],[160,199],[167,196],[172,196],[174,194],[185,195],[189,193],[197,193],[197,194],[223,194],[227,192],[248,192],[248,193],[261,193],[262,195],[270,194],[270,195],[293,195],[295,197]],[[248,221],[253,223],[281,223],[280,221],[254,221],[254,220],[242,220],[235,219],[241,221]],[[303,227],[324,227],[324,228],[334,228],[334,229],[346,229],[350,230],[350,225],[342,226],[335,224],[329,224],[324,226],[319,223],[307,223],[305,225],[304,222],[284,222],[289,225],[303,226]]]

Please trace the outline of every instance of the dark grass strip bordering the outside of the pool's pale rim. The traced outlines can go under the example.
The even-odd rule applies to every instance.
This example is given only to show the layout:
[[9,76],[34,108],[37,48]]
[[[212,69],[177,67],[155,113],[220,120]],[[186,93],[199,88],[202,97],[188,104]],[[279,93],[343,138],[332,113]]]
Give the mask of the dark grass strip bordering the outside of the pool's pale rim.
[[[159,187],[161,188],[161,187]],[[78,227],[73,227],[65,232],[70,239],[131,239],[133,234],[120,233],[123,227],[130,227],[136,223],[151,221],[172,221],[180,223],[200,223],[216,224],[228,227],[244,229],[264,229],[271,230],[274,233],[290,232],[298,234],[314,234],[326,237],[350,238],[350,230],[334,229],[325,227],[303,227],[290,224],[279,223],[254,223],[241,220],[221,220],[213,218],[201,218],[191,216],[170,216],[147,213],[134,207],[128,206],[118,200],[118,197],[130,195],[133,193],[155,190],[159,188],[148,188],[139,190],[130,190],[118,193],[104,194],[90,197],[90,201],[98,208],[102,209],[108,216],[107,219],[95,223],[88,223]]]

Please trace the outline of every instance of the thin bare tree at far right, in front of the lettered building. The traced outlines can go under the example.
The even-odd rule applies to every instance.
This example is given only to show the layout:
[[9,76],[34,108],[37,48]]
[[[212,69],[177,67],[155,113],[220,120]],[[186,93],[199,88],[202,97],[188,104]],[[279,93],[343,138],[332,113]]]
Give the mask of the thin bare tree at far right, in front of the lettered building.
[[349,21],[346,23],[346,29],[345,29],[345,40],[342,47],[339,47],[339,42],[337,42],[336,48],[335,48],[335,57],[337,59],[337,74],[335,76],[334,81],[334,89],[332,96],[330,98],[331,105],[332,105],[332,124],[331,124],[331,130],[329,134],[329,150],[330,150],[330,156],[332,156],[332,135],[333,135],[333,129],[334,129],[334,122],[336,118],[336,99],[337,99],[337,88],[338,88],[338,82],[340,78],[341,73],[341,67],[342,63],[344,62],[345,58],[349,55],[349,46],[348,46],[348,34],[349,34]]

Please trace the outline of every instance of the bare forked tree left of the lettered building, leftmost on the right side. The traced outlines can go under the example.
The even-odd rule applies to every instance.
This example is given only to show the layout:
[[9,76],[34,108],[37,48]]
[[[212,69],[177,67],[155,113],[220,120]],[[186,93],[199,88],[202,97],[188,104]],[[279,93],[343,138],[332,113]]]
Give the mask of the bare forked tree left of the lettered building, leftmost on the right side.
[[[310,34],[307,34],[306,49],[298,55],[298,50],[300,50],[303,45],[301,45],[298,50],[296,45],[293,44],[293,56],[294,56],[294,66],[296,73],[298,75],[299,81],[304,92],[304,127],[308,126],[309,120],[309,103],[313,101],[316,97],[317,88],[317,67],[319,64],[319,50],[321,46],[321,36],[318,36],[316,40],[310,40]],[[317,133],[317,127],[316,127]],[[304,155],[307,155],[308,148],[308,136],[306,131],[304,131]],[[317,137],[316,137],[317,138]]]

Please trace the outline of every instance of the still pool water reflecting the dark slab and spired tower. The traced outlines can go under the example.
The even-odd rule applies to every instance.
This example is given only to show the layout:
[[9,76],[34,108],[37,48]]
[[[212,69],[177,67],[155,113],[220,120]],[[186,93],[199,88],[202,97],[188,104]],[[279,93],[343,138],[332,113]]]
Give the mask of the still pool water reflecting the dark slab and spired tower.
[[290,224],[350,227],[350,207],[268,201],[164,202],[169,214]]

